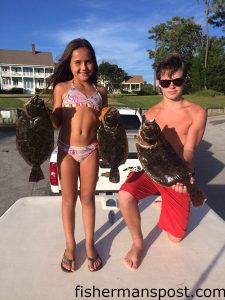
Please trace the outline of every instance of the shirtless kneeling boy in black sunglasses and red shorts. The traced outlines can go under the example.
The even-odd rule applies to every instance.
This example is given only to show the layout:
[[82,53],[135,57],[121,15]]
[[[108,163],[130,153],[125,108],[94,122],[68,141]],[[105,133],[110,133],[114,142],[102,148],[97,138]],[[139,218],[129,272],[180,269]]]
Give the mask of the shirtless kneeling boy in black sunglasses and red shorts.
[[[186,78],[185,66],[179,55],[172,54],[162,60],[156,69],[156,79],[163,97],[145,116],[146,119],[156,120],[165,138],[186,162],[190,171],[193,171],[194,151],[203,137],[207,114],[201,106],[183,99]],[[190,181],[193,180],[191,177]],[[130,173],[119,191],[120,210],[133,241],[124,258],[129,269],[138,268],[143,251],[138,201],[157,193],[162,198],[158,222],[160,229],[166,231],[168,238],[175,243],[185,234],[190,210],[190,197],[186,186],[181,182],[172,187],[163,187],[154,183],[143,170]]]

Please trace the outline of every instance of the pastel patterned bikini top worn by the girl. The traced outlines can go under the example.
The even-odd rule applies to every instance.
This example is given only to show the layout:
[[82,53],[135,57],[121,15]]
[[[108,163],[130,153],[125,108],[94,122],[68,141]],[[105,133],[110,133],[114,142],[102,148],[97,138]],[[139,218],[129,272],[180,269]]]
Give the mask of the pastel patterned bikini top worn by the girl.
[[62,107],[90,107],[97,111],[102,109],[102,96],[96,86],[92,96],[87,98],[76,86],[72,85],[68,94],[63,98]]

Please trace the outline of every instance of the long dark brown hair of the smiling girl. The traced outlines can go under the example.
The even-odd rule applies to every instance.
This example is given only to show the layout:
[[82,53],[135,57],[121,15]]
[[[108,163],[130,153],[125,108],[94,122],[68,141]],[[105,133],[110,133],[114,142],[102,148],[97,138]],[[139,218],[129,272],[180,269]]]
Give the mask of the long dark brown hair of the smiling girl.
[[94,72],[92,76],[90,77],[90,81],[94,84],[97,84],[97,76],[98,76],[98,65],[97,60],[95,56],[95,51],[92,47],[92,45],[85,39],[75,39],[69,42],[69,44],[66,46],[61,58],[58,60],[58,63],[55,66],[54,73],[50,76],[48,79],[48,87],[52,86],[54,87],[59,82],[65,82],[73,79],[73,74],[70,70],[70,60],[71,56],[74,50],[77,50],[79,48],[87,48],[90,51],[93,64],[94,64]]

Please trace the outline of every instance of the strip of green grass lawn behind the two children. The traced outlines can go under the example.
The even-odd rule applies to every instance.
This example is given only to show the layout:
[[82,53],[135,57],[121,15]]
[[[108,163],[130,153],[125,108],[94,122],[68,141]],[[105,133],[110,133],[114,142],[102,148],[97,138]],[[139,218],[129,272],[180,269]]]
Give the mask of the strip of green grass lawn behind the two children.
[[[22,108],[24,101],[28,100],[31,95],[0,95],[0,109],[10,108]],[[49,95],[42,95],[42,97],[48,101]],[[109,95],[109,104],[115,106],[125,107],[140,107],[147,109],[154,104],[158,103],[162,96],[136,96],[136,95]],[[185,95],[185,99],[197,103],[205,108],[224,108],[225,107],[225,95],[206,97],[197,95]],[[48,102],[48,106],[50,103]]]

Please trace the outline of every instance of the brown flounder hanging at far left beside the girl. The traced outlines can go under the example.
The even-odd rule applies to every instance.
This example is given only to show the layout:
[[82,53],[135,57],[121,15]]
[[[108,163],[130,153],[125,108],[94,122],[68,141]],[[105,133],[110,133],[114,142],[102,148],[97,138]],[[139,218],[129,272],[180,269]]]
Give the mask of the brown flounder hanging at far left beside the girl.
[[40,165],[54,147],[54,130],[49,114],[38,95],[24,105],[16,124],[16,145],[23,159],[32,166],[29,181],[44,179]]

